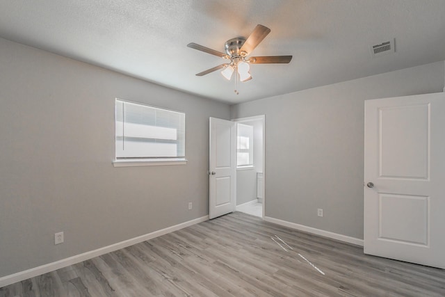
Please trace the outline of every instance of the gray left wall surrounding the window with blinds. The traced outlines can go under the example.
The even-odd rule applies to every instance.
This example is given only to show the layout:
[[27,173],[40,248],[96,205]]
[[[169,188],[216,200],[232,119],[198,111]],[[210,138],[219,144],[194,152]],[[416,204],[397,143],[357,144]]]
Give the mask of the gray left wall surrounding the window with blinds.
[[[115,97],[184,111],[187,165],[114,168]],[[208,214],[228,105],[3,39],[0,102],[0,277]]]

